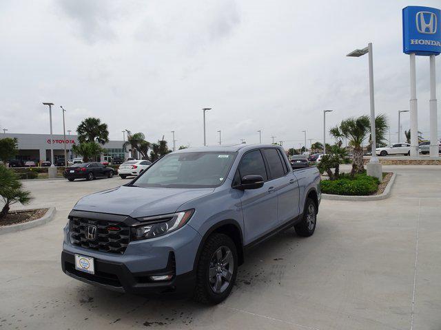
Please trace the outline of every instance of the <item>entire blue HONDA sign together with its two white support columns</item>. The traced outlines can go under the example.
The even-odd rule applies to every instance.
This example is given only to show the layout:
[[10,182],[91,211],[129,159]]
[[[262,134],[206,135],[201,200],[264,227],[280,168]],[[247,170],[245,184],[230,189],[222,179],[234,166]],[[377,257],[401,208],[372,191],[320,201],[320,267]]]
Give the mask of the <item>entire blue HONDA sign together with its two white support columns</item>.
[[402,10],[402,51],[410,56],[411,157],[418,157],[418,106],[416,98],[416,56],[430,57],[430,155],[438,155],[438,113],[435,56],[441,53],[441,10],[408,6]]

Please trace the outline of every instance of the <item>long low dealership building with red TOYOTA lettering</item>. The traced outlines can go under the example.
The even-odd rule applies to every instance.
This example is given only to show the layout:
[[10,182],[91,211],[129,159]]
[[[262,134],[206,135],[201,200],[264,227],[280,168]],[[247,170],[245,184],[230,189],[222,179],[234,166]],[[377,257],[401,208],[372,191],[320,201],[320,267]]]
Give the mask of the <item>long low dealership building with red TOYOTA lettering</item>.
[[[21,134],[21,133],[2,133],[0,138],[12,137],[17,138],[19,152],[15,156],[16,159],[23,161],[33,160],[35,162],[50,161],[50,145],[54,148],[54,162],[57,159],[64,158],[64,140],[63,135],[53,134],[52,139],[50,134]],[[52,141],[52,142],[51,142]],[[72,145],[78,144],[78,135],[66,135],[66,153],[68,159],[74,157],[81,157],[72,153]],[[123,148],[124,141],[109,141],[103,145],[105,152],[101,154],[101,162],[110,161],[113,157],[121,157],[126,159],[129,157],[129,150]]]

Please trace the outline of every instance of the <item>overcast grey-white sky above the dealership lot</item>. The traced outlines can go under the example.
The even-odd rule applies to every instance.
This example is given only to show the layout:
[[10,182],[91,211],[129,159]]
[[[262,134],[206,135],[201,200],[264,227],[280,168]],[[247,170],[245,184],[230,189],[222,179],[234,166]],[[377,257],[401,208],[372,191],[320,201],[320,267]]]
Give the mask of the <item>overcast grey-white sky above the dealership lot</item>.
[[[327,128],[369,114],[368,59],[348,58],[373,43],[376,112],[391,122],[409,109],[409,56],[401,9],[440,1],[0,1],[0,128],[8,133],[76,130],[87,117],[156,142],[240,139],[322,140]],[[441,60],[437,58],[441,93]],[[429,137],[429,58],[417,56],[418,127]],[[438,109],[441,109],[438,101]],[[438,113],[441,111],[438,110]],[[440,129],[441,115],[438,115]],[[403,129],[409,113],[402,114]],[[327,129],[327,130],[328,130]],[[309,142],[308,142],[309,144]]]

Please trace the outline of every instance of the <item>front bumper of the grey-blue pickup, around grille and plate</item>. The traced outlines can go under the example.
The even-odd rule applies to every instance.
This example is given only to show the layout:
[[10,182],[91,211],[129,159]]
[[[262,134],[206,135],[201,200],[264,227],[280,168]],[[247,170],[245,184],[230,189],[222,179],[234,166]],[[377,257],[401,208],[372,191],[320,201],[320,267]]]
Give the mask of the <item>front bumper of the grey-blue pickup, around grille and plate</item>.
[[[112,214],[93,214],[72,211],[82,217],[103,217],[113,220]],[[193,292],[194,260],[202,237],[189,225],[170,234],[131,241],[122,254],[101,252],[70,243],[69,225],[64,229],[61,267],[63,272],[79,281],[132,294]],[[94,258],[95,274],[75,269],[74,254]],[[170,281],[152,281],[150,276],[171,274]]]

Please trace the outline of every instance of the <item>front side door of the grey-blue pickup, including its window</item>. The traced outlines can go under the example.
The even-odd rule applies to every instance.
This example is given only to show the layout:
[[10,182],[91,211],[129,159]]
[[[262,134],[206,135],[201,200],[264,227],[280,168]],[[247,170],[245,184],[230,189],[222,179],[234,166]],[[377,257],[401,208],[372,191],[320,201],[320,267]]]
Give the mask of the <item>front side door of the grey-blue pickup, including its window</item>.
[[245,175],[261,175],[265,181],[262,188],[244,190],[240,197],[245,244],[249,244],[277,228],[277,194],[268,182],[267,168],[259,149],[248,151],[243,155],[234,181],[240,181]]

